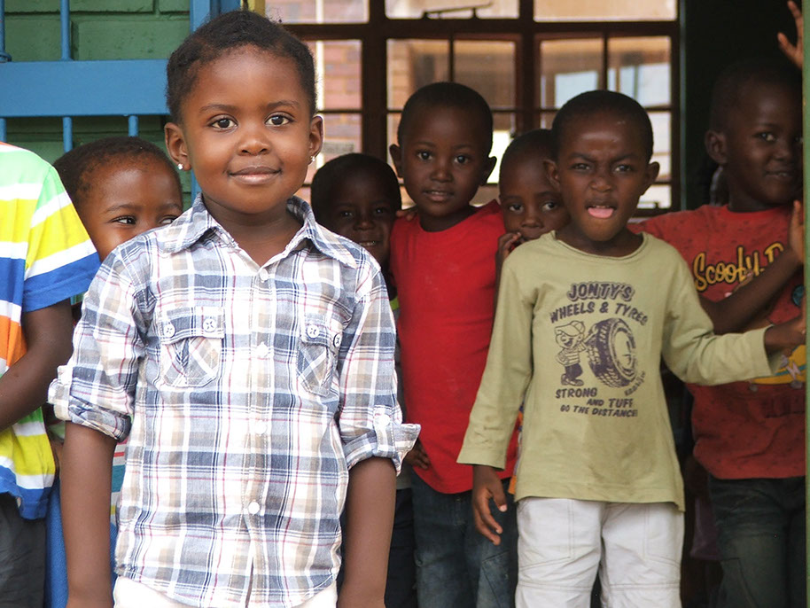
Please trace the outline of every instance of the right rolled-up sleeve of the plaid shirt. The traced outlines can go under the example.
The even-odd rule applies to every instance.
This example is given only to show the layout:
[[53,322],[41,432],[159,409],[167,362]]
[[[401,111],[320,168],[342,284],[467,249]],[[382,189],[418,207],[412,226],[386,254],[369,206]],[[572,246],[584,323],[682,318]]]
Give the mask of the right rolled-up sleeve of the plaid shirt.
[[359,269],[354,314],[339,352],[339,429],[347,467],[366,458],[390,458],[400,472],[419,425],[402,423],[393,354],[396,331],[381,273]]

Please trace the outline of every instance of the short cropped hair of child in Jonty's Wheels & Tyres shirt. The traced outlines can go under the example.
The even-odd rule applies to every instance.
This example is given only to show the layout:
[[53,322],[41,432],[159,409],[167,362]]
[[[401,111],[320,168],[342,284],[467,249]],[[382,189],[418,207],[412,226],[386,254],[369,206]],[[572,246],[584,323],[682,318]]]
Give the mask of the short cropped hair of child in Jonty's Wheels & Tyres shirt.
[[551,125],[554,158],[559,155],[560,144],[565,139],[565,132],[572,121],[602,113],[610,113],[630,121],[642,136],[644,156],[647,160],[652,158],[650,116],[633,97],[627,97],[627,95],[612,90],[591,90],[565,102]]

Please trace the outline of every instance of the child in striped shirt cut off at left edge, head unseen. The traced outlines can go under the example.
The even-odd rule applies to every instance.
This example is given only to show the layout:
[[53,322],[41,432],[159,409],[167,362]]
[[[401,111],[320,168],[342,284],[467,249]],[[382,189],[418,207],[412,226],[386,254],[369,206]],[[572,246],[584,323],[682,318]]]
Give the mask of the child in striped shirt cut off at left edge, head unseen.
[[98,258],[56,171],[9,144],[0,144],[0,243],[0,602],[39,608],[55,472],[40,406],[70,355],[69,299],[90,285]]

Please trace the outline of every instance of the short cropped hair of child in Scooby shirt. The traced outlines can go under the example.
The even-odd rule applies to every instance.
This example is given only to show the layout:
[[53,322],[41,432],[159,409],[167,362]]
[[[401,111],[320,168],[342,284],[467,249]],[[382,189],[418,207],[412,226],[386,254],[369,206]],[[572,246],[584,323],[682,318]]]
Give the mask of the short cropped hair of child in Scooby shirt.
[[752,84],[793,90],[801,98],[801,73],[787,61],[768,58],[737,61],[720,72],[714,82],[709,129],[722,131],[726,128],[728,113],[739,105],[744,89]]

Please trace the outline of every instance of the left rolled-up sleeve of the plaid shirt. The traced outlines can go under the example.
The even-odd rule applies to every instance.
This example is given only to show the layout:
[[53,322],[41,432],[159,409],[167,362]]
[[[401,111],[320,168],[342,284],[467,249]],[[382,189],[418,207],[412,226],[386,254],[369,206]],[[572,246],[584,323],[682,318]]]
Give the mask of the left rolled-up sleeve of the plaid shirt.
[[136,301],[125,264],[111,255],[90,284],[74,331],[74,353],[49,391],[57,417],[119,441],[129,434],[144,355]]

